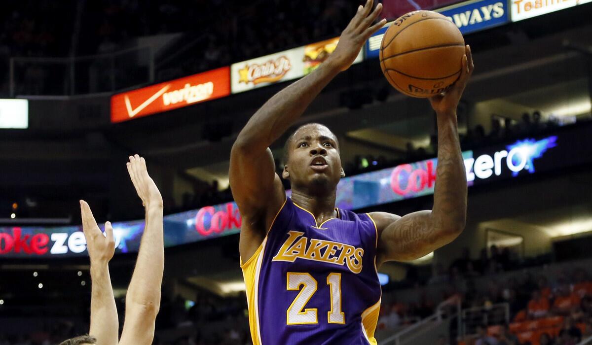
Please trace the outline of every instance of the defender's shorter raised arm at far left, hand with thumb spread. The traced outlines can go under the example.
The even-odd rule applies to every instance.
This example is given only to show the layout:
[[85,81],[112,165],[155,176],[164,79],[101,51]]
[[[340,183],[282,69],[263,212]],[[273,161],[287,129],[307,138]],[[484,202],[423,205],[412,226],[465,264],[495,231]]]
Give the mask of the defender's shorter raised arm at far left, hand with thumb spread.
[[115,253],[113,227],[111,223],[105,223],[104,236],[91,208],[83,200],[80,201],[80,209],[86,248],[91,258],[91,329],[88,334],[101,345],[115,345],[118,343],[119,323],[109,275],[109,261]]

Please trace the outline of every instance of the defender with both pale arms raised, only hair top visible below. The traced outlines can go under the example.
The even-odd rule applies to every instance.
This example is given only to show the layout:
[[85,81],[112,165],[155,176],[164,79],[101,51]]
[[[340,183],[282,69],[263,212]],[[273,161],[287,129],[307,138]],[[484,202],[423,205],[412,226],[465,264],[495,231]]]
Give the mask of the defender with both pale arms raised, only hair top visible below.
[[91,208],[81,200],[82,228],[91,258],[91,329],[89,336],[72,338],[60,345],[152,344],[165,263],[162,196],[148,175],[146,161],[142,157],[137,154],[130,156],[127,171],[146,209],[146,227],[136,268],[127,288],[126,317],[121,340],[118,341],[117,308],[108,267],[115,253],[113,228],[110,222],[105,223],[103,236]]

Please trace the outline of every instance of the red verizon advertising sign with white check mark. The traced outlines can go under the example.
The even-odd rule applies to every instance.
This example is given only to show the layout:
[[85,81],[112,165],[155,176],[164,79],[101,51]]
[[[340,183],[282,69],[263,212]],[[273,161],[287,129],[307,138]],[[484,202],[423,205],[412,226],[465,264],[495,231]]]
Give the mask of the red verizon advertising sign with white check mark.
[[230,95],[230,70],[222,67],[111,97],[111,122],[122,122]]

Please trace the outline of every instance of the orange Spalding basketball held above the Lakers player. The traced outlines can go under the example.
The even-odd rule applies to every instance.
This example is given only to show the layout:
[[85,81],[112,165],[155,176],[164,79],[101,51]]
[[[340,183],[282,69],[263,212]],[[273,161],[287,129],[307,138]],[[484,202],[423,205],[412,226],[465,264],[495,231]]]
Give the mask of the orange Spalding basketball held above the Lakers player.
[[445,92],[461,75],[465,40],[445,16],[413,11],[388,28],[379,54],[382,73],[395,89],[427,98]]

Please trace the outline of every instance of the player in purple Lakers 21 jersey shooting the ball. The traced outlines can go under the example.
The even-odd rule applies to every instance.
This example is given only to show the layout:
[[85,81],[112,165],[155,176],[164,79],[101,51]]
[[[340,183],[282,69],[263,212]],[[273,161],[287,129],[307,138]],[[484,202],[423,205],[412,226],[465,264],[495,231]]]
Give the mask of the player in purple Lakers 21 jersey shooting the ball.
[[400,217],[335,208],[343,173],[339,142],[320,124],[299,127],[285,143],[282,177],[269,146],[294,125],[318,93],[347,69],[385,21],[368,0],[333,54],[310,75],[263,105],[245,125],[230,156],[230,185],[243,217],[240,258],[253,344],[376,344],[381,301],[377,267],[422,257],[465,226],[466,175],[456,107],[473,70],[471,51],[445,95],[430,99],[437,114],[438,165],[432,210]]

